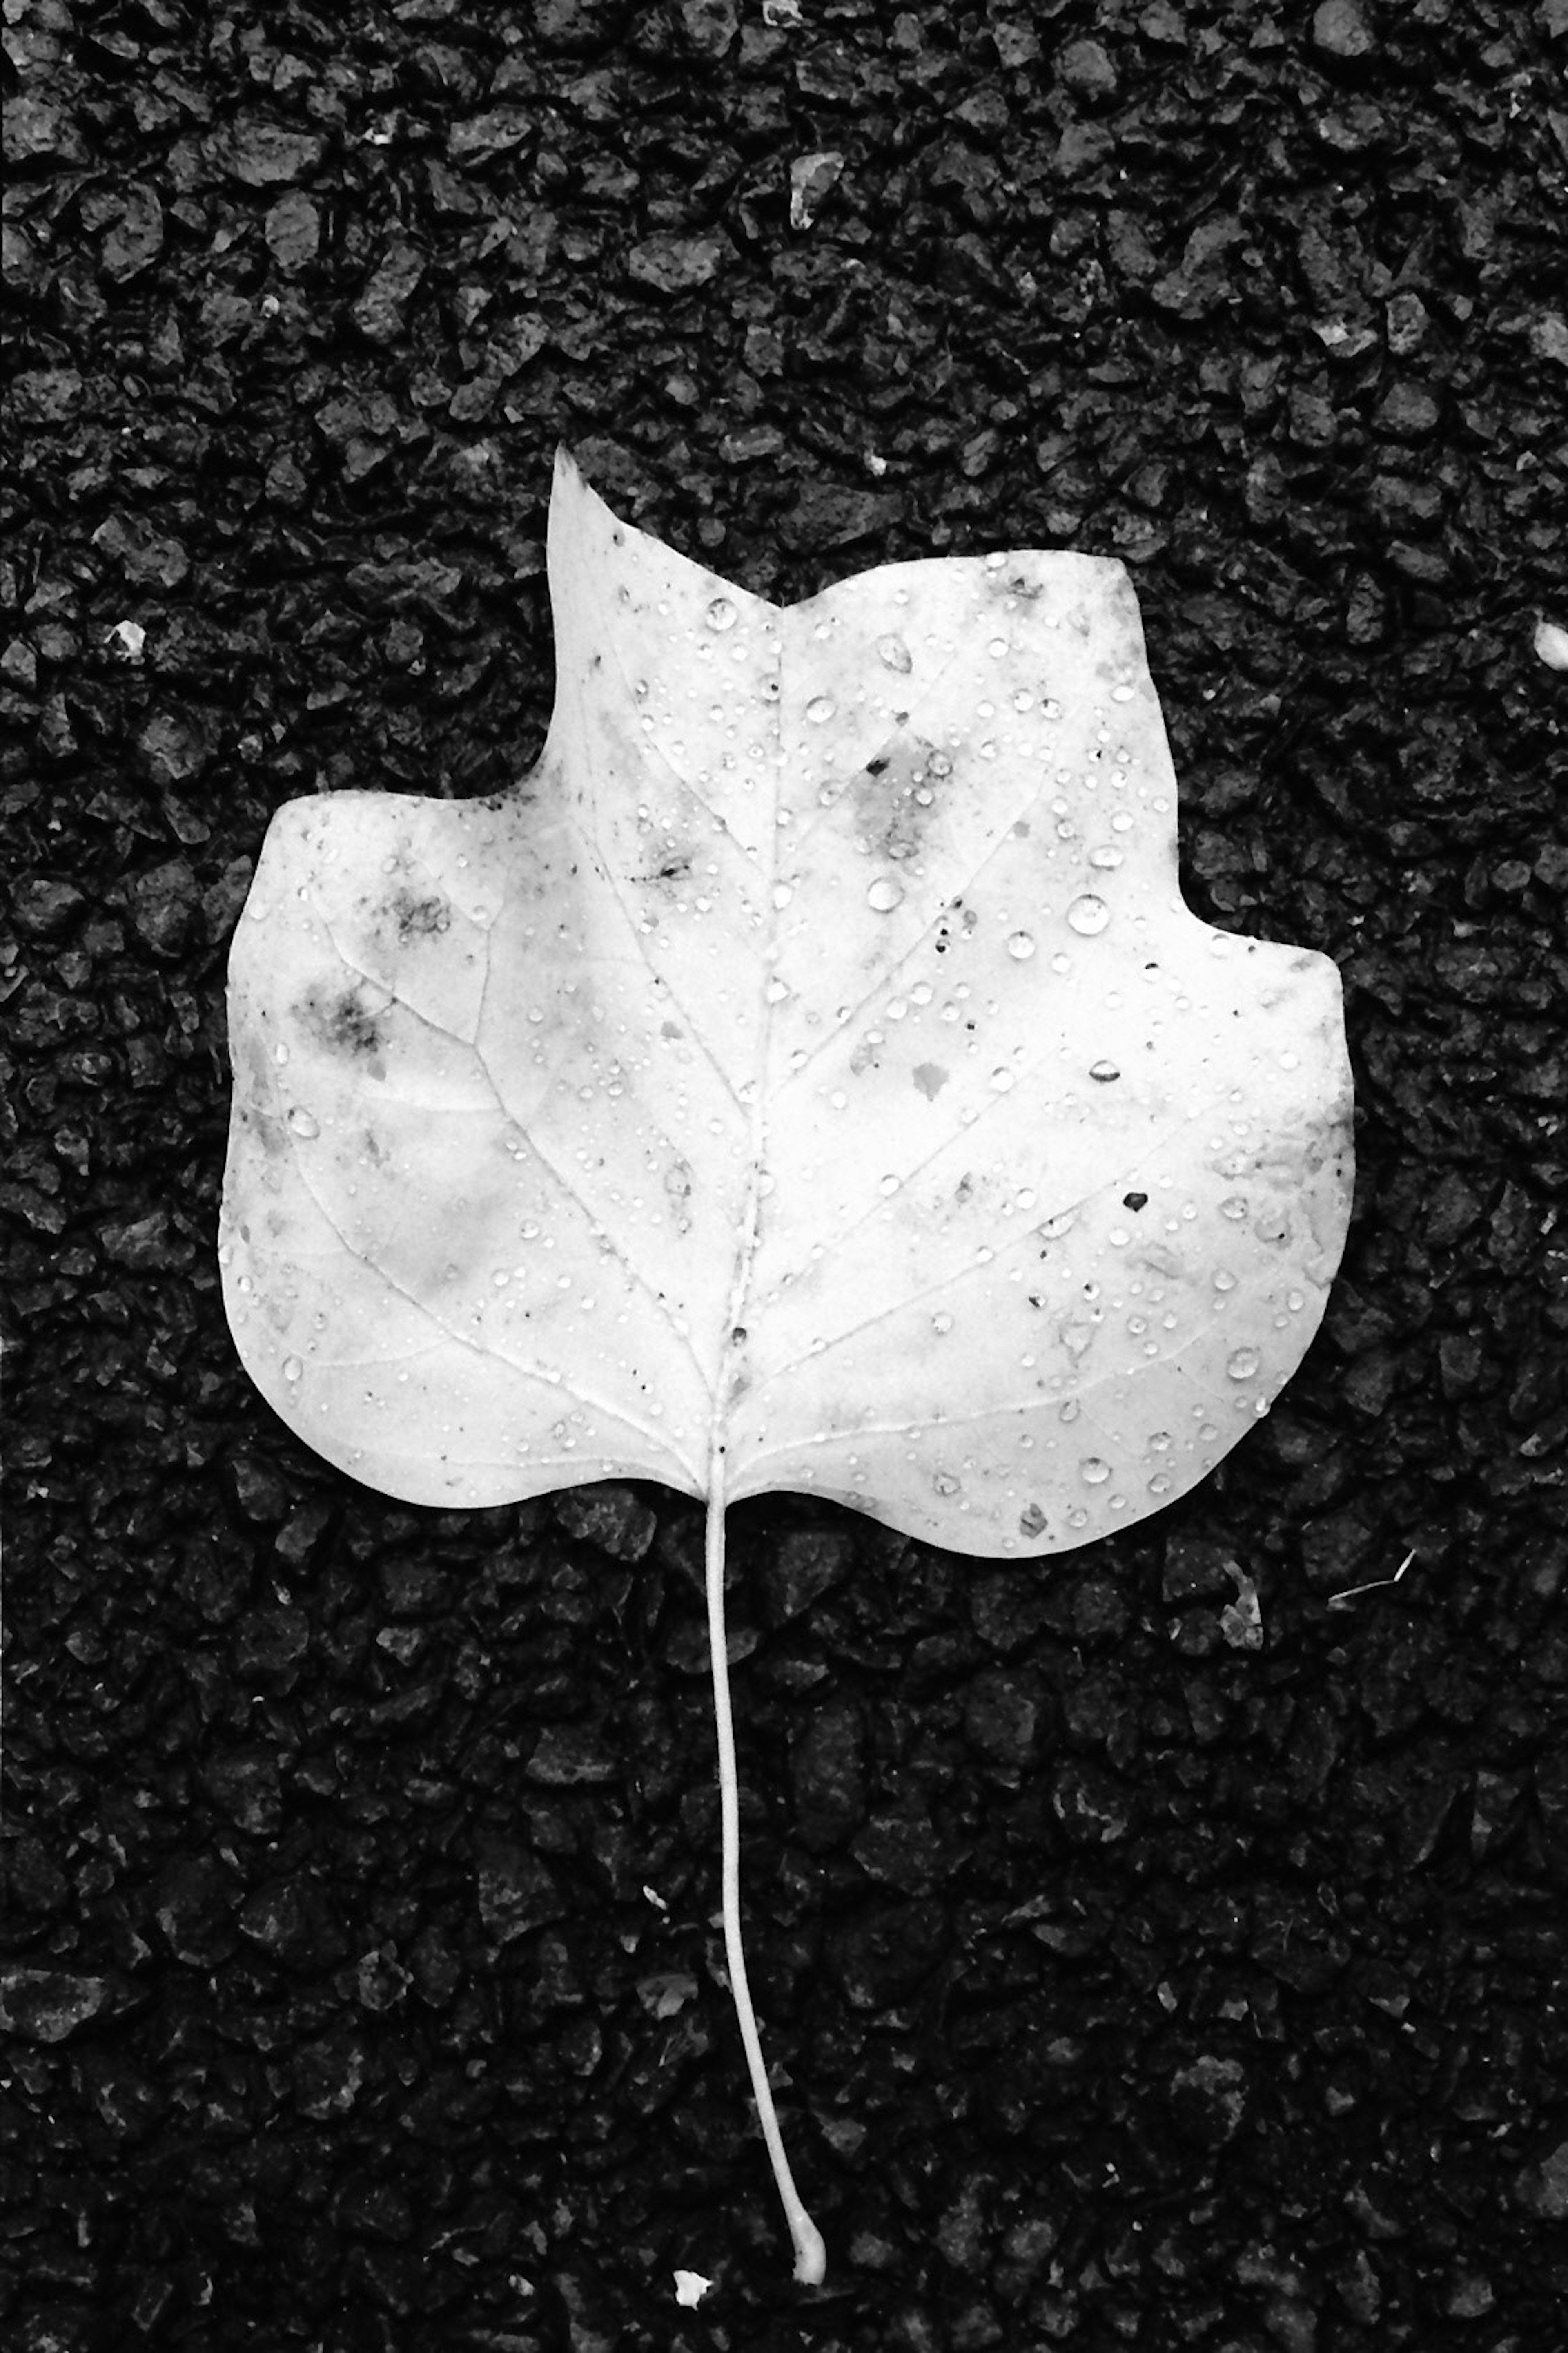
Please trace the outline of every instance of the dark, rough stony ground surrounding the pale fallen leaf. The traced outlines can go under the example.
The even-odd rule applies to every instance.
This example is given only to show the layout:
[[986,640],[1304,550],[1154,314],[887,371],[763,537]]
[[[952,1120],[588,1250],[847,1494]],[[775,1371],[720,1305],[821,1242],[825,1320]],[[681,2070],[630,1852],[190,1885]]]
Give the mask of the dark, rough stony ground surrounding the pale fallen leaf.
[[[1547,2353],[1566,0],[5,19],[7,2341]],[[1121,555],[1192,906],[1347,984],[1345,1273],[1208,1485],[736,1515],[816,2294],[693,1506],[395,1508],[216,1292],[266,819],[534,758],[559,438],[785,600]]]

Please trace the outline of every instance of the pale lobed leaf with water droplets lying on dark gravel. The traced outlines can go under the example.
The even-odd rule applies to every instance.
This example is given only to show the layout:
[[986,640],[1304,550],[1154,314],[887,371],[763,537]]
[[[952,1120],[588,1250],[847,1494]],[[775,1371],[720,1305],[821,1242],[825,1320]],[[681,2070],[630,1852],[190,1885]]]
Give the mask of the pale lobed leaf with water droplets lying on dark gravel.
[[1185,1494],[1316,1332],[1352,1082],[1333,962],[1180,899],[1121,565],[783,609],[562,452],[548,567],[529,776],[268,831],[221,1233],[263,1398],[416,1504],[661,1480],[710,1581],[771,1489],[978,1555]]

